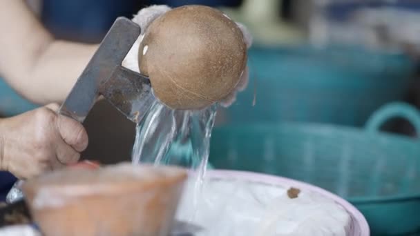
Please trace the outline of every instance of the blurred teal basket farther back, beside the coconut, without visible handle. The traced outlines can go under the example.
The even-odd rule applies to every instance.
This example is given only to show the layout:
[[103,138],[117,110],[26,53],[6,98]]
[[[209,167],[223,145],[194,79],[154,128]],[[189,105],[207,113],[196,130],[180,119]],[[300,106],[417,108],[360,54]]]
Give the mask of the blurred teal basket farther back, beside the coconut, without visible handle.
[[249,68],[247,90],[220,114],[227,123],[363,126],[374,110],[403,99],[414,62],[402,54],[356,47],[254,47],[249,50]]

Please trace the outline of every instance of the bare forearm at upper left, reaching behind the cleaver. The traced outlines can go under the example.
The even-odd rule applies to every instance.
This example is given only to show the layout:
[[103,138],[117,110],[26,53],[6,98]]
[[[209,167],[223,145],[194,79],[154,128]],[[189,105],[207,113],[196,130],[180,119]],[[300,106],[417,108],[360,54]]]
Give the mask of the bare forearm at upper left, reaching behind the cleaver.
[[0,76],[37,104],[61,103],[97,45],[56,40],[23,0],[0,0]]

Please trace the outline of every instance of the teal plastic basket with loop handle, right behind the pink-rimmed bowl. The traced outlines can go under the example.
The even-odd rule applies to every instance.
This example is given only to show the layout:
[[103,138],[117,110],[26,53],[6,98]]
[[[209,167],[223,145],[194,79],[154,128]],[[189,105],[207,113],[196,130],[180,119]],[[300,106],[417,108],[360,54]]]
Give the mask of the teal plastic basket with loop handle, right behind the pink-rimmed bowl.
[[420,230],[420,140],[378,132],[394,117],[420,132],[407,104],[384,106],[365,130],[323,124],[242,124],[213,130],[215,168],[249,170],[305,181],[349,200],[372,235]]

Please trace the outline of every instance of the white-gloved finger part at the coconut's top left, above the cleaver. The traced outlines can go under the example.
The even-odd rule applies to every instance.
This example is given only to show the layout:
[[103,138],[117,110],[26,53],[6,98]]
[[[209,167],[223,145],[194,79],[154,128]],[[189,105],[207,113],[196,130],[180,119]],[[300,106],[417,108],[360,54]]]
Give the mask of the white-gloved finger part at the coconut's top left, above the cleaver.
[[142,29],[142,34],[144,34],[144,30],[146,30],[152,21],[169,10],[171,10],[171,8],[166,5],[149,6],[149,8],[143,8],[137,12],[137,15],[135,15],[132,21],[140,26]]

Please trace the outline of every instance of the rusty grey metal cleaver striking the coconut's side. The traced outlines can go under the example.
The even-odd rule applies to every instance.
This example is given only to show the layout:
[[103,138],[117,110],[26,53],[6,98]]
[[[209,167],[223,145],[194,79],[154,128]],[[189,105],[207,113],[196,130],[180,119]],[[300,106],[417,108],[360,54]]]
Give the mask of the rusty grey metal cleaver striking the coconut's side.
[[151,83],[149,78],[121,66],[140,32],[133,21],[117,18],[61,105],[60,114],[83,122],[103,95],[131,121],[142,119],[155,99]]

